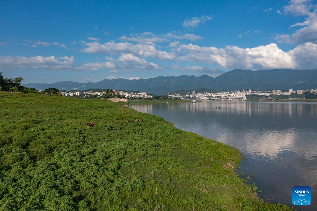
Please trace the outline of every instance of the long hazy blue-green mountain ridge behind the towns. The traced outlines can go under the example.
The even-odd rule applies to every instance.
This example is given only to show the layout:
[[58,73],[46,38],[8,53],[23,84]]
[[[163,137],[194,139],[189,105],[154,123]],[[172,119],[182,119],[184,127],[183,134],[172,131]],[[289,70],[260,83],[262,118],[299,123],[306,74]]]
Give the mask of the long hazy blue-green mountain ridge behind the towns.
[[317,87],[317,70],[241,70],[235,69],[213,78],[208,75],[159,76],[156,78],[128,80],[123,78],[105,79],[99,82],[78,83],[60,81],[52,84],[29,83],[27,87],[45,89],[55,87],[62,90],[85,90],[90,88],[138,90],[152,94],[165,94],[180,89],[208,88],[215,90],[241,89],[311,89]]

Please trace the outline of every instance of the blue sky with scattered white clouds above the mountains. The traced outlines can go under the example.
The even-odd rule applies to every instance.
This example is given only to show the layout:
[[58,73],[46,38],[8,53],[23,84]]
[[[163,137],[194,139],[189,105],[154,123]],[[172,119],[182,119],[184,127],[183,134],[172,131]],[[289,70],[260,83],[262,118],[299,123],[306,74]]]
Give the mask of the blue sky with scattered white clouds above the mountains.
[[23,83],[317,69],[317,2],[3,1],[0,72]]

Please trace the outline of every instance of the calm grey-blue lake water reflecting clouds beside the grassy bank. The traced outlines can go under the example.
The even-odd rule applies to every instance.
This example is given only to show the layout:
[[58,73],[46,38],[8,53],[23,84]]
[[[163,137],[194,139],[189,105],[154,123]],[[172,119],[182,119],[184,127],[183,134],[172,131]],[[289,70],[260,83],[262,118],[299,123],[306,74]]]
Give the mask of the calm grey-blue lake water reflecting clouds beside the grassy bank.
[[[220,106],[217,109],[216,106]],[[260,198],[292,206],[292,188],[310,186],[317,210],[317,103],[199,102],[136,104],[175,126],[239,149],[246,160],[238,172],[255,175]]]

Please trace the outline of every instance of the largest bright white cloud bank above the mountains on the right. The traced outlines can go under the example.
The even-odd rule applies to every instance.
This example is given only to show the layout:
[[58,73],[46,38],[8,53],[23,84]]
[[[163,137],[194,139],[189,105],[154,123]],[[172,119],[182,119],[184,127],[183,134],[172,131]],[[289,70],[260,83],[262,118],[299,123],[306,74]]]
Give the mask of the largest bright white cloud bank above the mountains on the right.
[[[306,43],[299,45],[289,52],[284,52],[275,43],[255,48],[239,48],[226,46],[225,48],[200,47],[197,45],[179,45],[178,51],[182,55],[180,61],[199,61],[218,64],[223,68],[242,69],[276,69],[276,68],[315,68],[317,61],[317,45]],[[309,58],[305,60],[304,58]]]

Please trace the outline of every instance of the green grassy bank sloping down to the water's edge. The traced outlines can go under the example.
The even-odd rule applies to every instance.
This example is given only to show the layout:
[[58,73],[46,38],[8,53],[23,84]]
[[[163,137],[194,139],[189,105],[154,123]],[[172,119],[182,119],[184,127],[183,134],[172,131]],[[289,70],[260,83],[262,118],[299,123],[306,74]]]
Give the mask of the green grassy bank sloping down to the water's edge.
[[238,150],[160,117],[25,93],[0,112],[0,210],[289,210],[241,181]]

